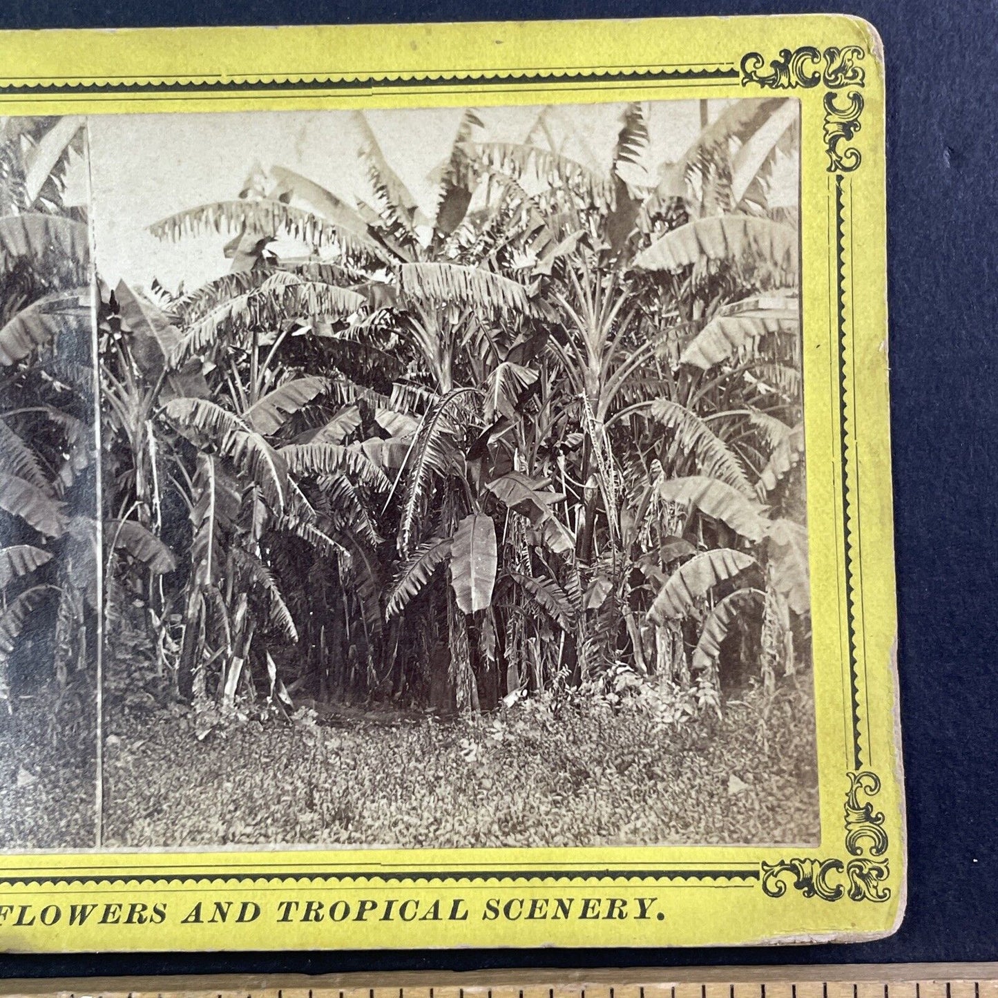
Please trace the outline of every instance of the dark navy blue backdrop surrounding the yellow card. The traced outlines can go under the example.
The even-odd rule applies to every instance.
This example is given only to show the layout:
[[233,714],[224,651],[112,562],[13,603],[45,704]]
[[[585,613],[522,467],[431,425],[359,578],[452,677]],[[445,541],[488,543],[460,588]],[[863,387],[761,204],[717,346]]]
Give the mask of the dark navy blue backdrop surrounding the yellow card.
[[[848,946],[0,956],[0,975],[322,973],[998,959],[996,0],[0,0],[0,28],[841,11],[887,60],[887,202],[908,910]],[[814,903],[821,903],[815,900]]]

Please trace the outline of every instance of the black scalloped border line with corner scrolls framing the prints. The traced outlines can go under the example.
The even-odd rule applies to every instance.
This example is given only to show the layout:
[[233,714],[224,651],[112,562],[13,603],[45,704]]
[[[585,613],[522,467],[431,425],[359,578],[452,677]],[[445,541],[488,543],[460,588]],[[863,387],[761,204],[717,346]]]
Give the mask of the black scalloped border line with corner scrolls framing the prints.
[[[770,897],[782,897],[789,883],[804,897],[818,897],[826,901],[848,897],[853,901],[885,901],[891,896],[889,887],[882,886],[888,876],[888,863],[880,859],[888,848],[888,837],[884,830],[884,815],[873,809],[869,798],[880,789],[879,776],[862,767],[862,747],[860,745],[859,677],[855,641],[855,607],[857,595],[852,582],[853,517],[850,509],[850,489],[848,476],[849,411],[846,403],[845,376],[845,269],[843,248],[844,194],[842,179],[844,174],[855,171],[862,157],[859,151],[849,145],[860,130],[860,116],[863,110],[863,97],[857,89],[862,88],[865,74],[857,65],[864,57],[858,46],[830,46],[819,50],[813,46],[802,46],[793,50],[781,49],[778,56],[766,64],[758,52],[749,52],[740,63],[715,63],[710,66],[669,66],[655,68],[621,68],[602,71],[593,70],[510,70],[502,73],[467,73],[460,75],[414,74],[411,76],[371,74],[367,76],[333,77],[322,74],[303,74],[289,77],[246,76],[236,78],[194,77],[147,77],[126,80],[108,79],[63,79],[53,80],[7,80],[0,82],[0,97],[42,97],[61,96],[123,96],[149,95],[170,98],[171,96],[206,96],[213,94],[287,94],[288,92],[316,93],[329,91],[363,92],[394,89],[437,89],[444,87],[495,87],[499,85],[530,84],[613,84],[613,83],[693,83],[726,82],[741,79],[742,85],[756,85],[762,89],[812,89],[819,85],[826,88],[822,105],[824,108],[823,137],[825,154],[828,158],[828,173],[834,175],[835,182],[835,276],[836,276],[836,332],[838,335],[838,378],[839,378],[839,421],[840,421],[840,470],[842,474],[841,498],[843,510],[843,546],[845,556],[846,587],[846,627],[848,631],[850,714],[852,721],[852,759],[854,769],[846,773],[848,788],[845,793],[845,850],[852,857],[846,860],[828,858],[790,858],[773,863],[762,861],[758,868],[735,869],[732,867],[697,867],[677,869],[566,869],[566,870],[313,870],[313,871],[253,871],[232,870],[227,872],[178,872],[167,875],[148,875],[142,872],[130,874],[115,871],[113,875],[93,873],[59,875],[3,876],[0,884],[8,886],[52,886],[79,883],[123,885],[128,883],[205,883],[205,882],[266,882],[320,881],[342,882],[381,881],[381,882],[462,882],[473,880],[499,881],[580,881],[580,880],[622,880],[640,881],[727,881],[729,886],[748,885],[758,882],[762,891]],[[844,92],[843,92],[844,91]],[[854,416],[852,417],[854,419]],[[858,512],[858,510],[857,510]],[[844,880],[843,880],[844,876]]]

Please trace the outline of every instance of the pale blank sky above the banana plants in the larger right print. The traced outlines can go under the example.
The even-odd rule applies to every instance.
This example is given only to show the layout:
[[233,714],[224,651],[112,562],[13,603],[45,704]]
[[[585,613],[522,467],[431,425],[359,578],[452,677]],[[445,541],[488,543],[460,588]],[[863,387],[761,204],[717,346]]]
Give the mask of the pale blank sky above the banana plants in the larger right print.
[[[723,102],[711,101],[711,119]],[[552,108],[549,128],[565,155],[609,171],[624,105]],[[700,131],[700,102],[646,105],[650,171],[674,162]],[[453,143],[463,109],[365,112],[384,155],[420,208],[435,215],[438,171]],[[522,142],[539,108],[484,108],[480,141]],[[347,201],[369,199],[358,158],[360,132],[349,112],[107,115],[90,119],[92,221],[101,275],[148,287],[154,277],[188,290],[225,273],[223,247],[231,237],[161,243],[148,227],[176,212],[239,197],[254,166],[282,166]],[[276,247],[275,249],[284,249]],[[293,252],[291,247],[287,250]]]

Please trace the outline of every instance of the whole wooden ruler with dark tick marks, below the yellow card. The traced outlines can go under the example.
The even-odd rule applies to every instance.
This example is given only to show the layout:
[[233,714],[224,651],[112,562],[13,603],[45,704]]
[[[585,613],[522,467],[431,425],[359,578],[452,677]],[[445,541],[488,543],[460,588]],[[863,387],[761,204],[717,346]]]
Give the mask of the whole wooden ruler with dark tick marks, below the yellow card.
[[0,981],[51,998],[998,998],[998,963]]

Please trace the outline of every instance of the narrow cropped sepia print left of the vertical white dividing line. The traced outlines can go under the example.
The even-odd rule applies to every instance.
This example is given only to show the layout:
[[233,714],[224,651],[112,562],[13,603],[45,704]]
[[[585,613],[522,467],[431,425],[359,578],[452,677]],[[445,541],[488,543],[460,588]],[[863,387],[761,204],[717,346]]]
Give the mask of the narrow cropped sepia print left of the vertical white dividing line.
[[0,118],[0,848],[98,844],[103,593],[83,118]]

